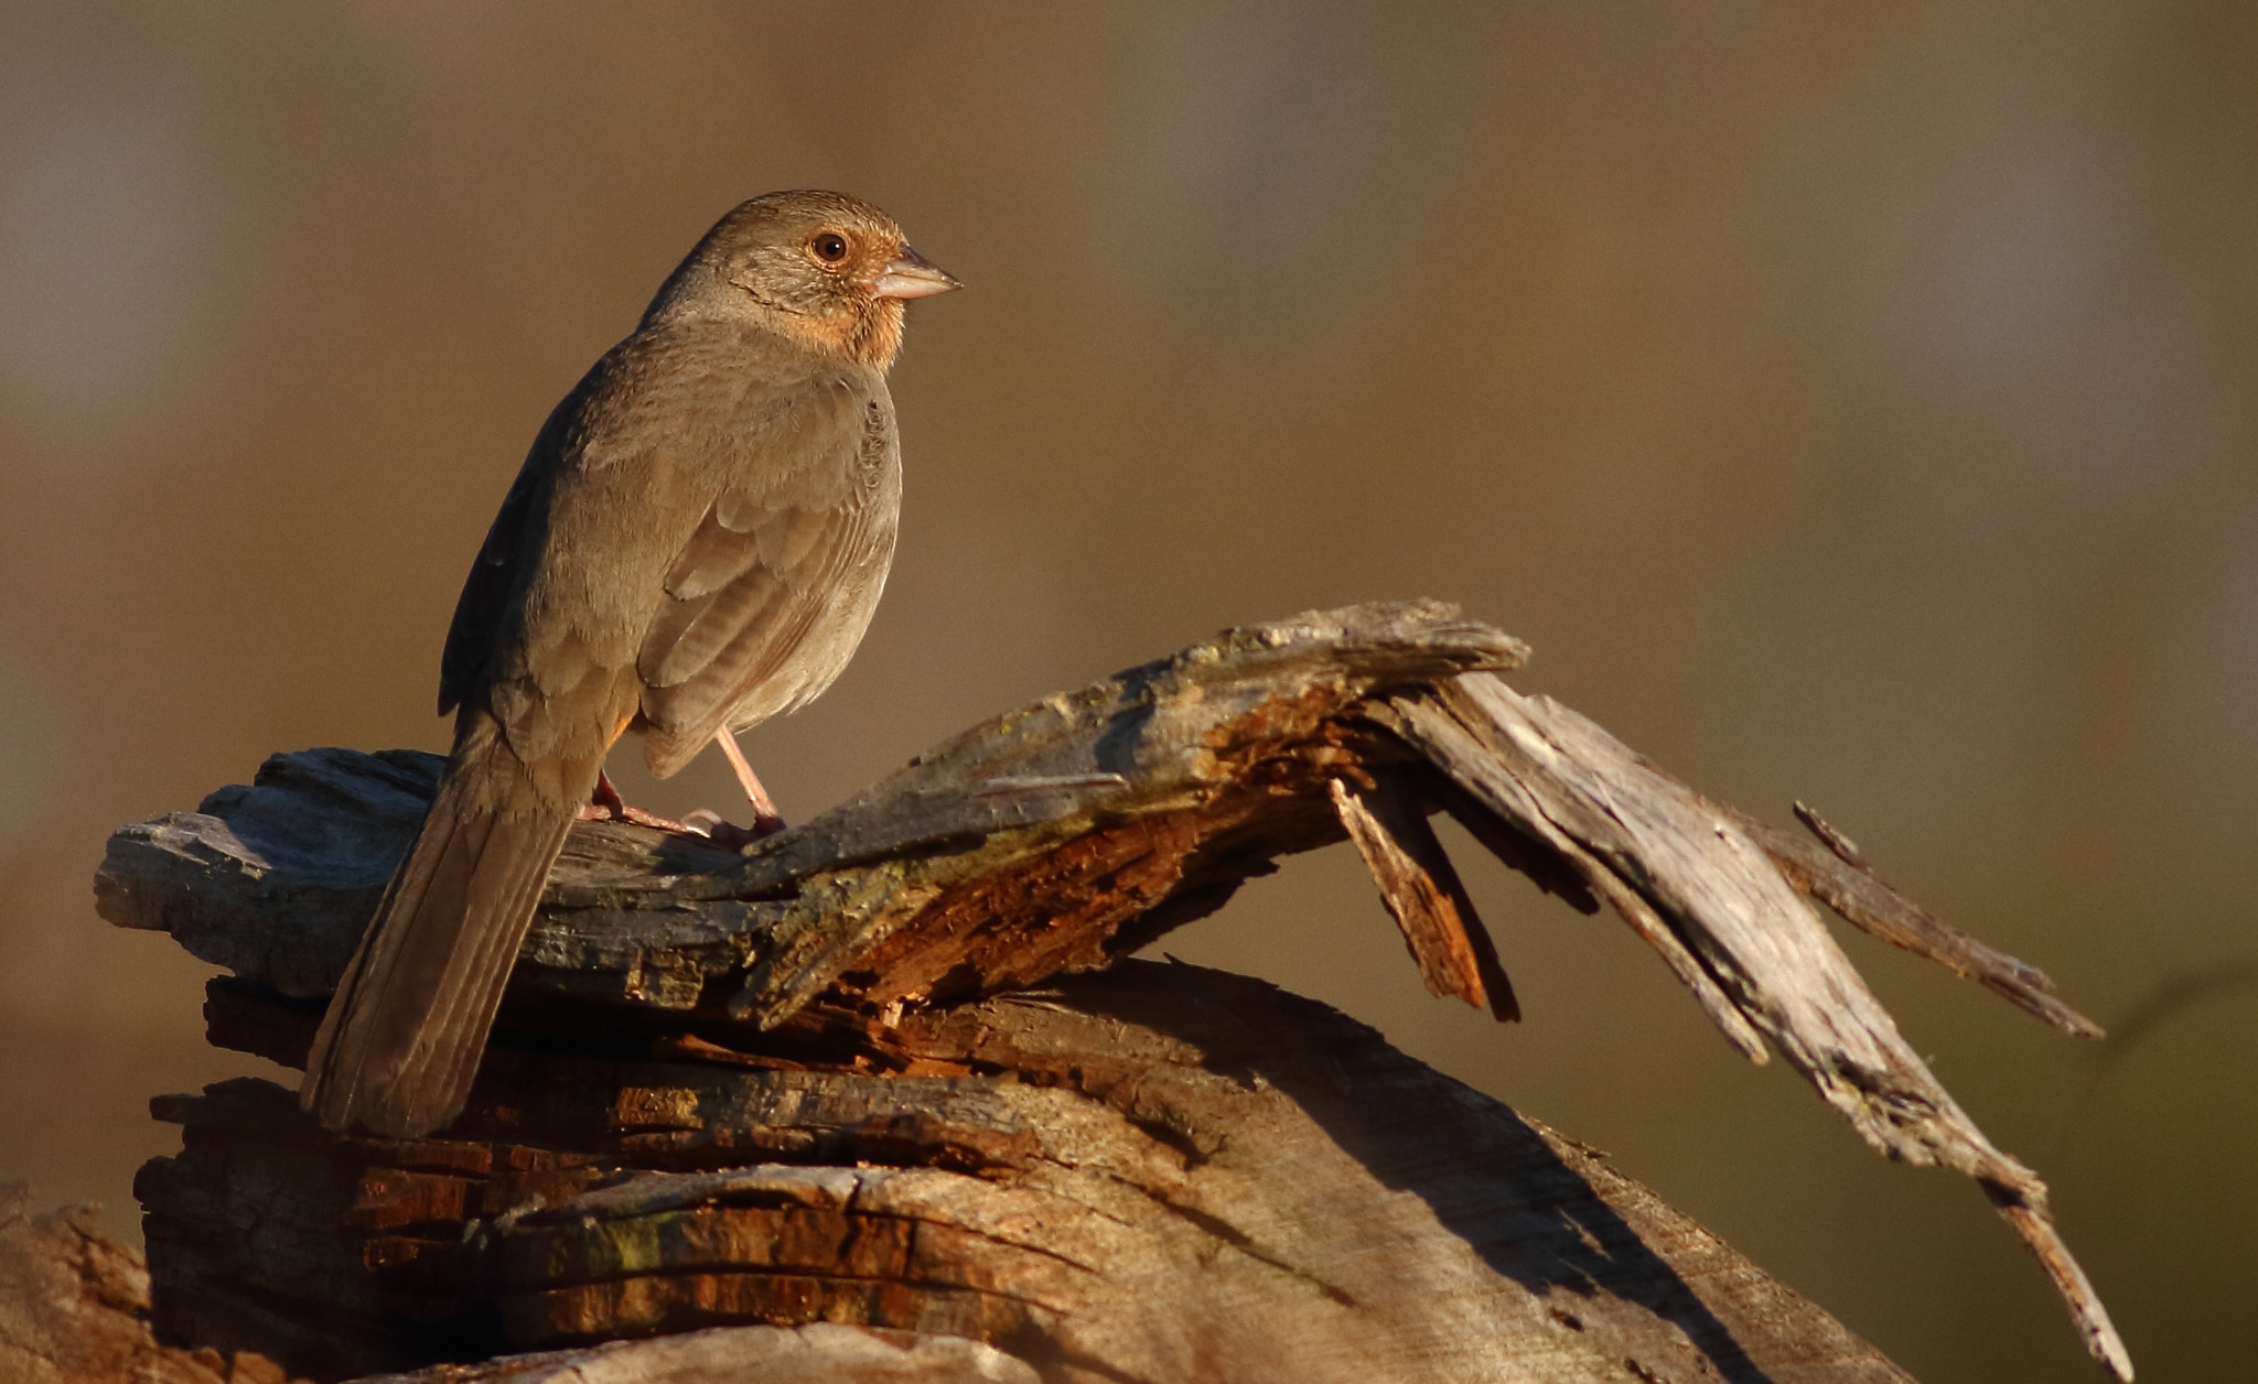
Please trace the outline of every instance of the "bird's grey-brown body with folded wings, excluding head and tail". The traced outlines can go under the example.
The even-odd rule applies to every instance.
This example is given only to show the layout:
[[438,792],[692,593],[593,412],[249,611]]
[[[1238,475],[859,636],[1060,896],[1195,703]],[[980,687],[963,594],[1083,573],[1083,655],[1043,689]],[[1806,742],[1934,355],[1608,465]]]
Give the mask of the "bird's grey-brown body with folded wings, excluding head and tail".
[[772,350],[639,334],[558,404],[463,585],[440,711],[492,711],[528,763],[639,711],[664,777],[838,675],[892,560],[894,406],[874,370],[745,368]]

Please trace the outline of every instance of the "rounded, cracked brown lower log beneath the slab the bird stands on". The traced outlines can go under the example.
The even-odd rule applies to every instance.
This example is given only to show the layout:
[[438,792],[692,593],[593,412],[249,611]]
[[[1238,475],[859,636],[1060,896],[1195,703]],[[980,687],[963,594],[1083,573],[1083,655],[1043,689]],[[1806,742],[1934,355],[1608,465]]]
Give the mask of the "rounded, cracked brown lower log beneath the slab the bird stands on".
[[[312,1032],[244,982],[212,1007],[275,1059]],[[501,1048],[445,1140],[330,1140],[248,1079],[163,1102],[167,1325],[318,1375],[835,1321],[1068,1382],[1906,1379],[1592,1149],[1255,980],[1124,962],[903,1016],[869,1070],[698,1057]]]

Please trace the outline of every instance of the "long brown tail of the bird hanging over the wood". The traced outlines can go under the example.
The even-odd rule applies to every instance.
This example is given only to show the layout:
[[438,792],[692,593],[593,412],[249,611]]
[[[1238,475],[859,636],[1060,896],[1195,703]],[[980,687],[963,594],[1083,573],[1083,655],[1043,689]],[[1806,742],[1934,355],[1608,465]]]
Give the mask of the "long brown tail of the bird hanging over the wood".
[[549,867],[598,768],[528,765],[492,720],[463,727],[314,1034],[305,1111],[327,1129],[393,1138],[420,1138],[463,1111]]

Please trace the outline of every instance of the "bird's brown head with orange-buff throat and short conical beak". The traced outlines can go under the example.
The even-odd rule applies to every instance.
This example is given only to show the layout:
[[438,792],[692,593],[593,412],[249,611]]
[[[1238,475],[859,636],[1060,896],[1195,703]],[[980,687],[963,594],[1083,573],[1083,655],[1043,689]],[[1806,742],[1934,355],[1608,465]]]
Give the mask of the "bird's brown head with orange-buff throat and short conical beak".
[[867,201],[770,192],[707,233],[644,321],[752,316],[817,354],[885,370],[901,350],[903,305],[955,287]]

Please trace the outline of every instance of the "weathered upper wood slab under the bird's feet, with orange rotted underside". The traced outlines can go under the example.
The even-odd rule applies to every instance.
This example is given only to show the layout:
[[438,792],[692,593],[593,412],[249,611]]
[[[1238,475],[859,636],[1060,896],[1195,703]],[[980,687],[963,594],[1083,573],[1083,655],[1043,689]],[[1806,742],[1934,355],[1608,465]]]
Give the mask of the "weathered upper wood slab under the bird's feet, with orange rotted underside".
[[[1346,741],[1404,759],[1350,718],[1375,689],[1522,652],[1436,605],[1312,614],[998,716],[743,858],[583,824],[517,989],[720,998],[772,1023],[826,987],[878,1011],[1102,966],[1278,853],[1341,840],[1323,783],[1364,772]],[[97,908],[285,993],[330,993],[438,774],[429,754],[375,759],[278,756],[251,788],[122,829]]]

